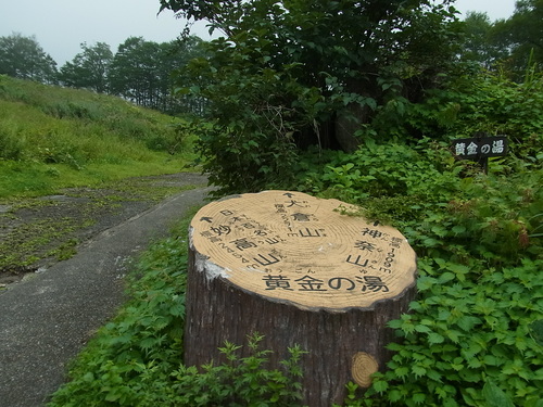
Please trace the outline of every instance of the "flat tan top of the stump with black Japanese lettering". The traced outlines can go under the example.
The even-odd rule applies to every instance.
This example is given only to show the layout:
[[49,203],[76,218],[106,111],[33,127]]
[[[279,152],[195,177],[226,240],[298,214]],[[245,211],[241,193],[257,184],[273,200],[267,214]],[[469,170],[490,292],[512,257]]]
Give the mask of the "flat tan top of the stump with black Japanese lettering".
[[396,229],[342,208],[352,207],[290,191],[210,203],[191,222],[197,269],[302,309],[370,308],[401,296],[415,284],[415,252]]

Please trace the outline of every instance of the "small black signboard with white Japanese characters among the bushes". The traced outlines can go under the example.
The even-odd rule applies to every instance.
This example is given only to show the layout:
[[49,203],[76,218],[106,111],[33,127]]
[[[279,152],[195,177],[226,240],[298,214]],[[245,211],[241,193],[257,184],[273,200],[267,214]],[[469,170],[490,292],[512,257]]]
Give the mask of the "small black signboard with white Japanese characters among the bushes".
[[507,154],[505,136],[472,137],[453,141],[453,154],[458,160],[481,161],[481,158],[500,157]]

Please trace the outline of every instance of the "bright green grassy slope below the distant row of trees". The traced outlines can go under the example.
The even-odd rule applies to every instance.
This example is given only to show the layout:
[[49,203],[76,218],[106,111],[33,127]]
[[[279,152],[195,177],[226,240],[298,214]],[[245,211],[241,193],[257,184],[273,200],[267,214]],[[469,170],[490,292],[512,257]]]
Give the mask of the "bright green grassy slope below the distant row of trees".
[[118,98],[0,75],[0,198],[180,171],[193,153],[179,123]]

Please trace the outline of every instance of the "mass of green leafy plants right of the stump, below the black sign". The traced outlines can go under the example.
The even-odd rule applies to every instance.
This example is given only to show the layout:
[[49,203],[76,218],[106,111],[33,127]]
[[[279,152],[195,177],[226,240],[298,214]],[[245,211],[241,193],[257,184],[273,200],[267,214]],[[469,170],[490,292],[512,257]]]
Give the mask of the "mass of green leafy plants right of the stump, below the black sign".
[[[484,175],[446,145],[366,143],[301,165],[299,188],[390,221],[418,254],[418,297],[390,322],[388,371],[349,406],[540,406],[541,162]],[[528,169],[529,168],[529,169]]]

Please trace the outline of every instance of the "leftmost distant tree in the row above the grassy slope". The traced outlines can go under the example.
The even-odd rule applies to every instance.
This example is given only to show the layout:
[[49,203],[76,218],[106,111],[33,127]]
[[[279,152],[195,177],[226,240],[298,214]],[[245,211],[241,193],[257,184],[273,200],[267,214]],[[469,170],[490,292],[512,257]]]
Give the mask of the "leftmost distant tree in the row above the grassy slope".
[[0,37],[0,74],[53,84],[56,62],[43,51],[35,36],[14,33]]

